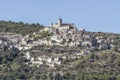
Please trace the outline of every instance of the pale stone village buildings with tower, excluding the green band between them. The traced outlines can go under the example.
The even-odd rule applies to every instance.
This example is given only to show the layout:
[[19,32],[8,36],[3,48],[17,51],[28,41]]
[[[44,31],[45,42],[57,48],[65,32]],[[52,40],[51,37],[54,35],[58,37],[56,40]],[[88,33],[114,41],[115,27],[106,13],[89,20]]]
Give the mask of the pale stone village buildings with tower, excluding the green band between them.
[[[43,35],[40,35],[43,34]],[[45,36],[44,36],[45,35]],[[32,35],[22,36],[13,33],[1,33],[2,38],[8,42],[0,40],[0,44],[4,44],[9,49],[15,47],[19,50],[30,50],[35,46],[59,46],[59,47],[81,47],[80,51],[74,51],[73,54],[52,54],[51,56],[42,55],[33,57],[31,52],[26,52],[25,57],[30,60],[27,64],[42,65],[46,62],[49,67],[54,67],[55,64],[60,65],[60,59],[72,58],[77,59],[80,55],[86,55],[96,50],[109,50],[115,47],[112,43],[115,42],[115,36],[92,35],[86,32],[85,29],[78,30],[74,23],[62,23],[62,19],[58,19],[58,23],[51,23],[49,27],[41,29],[39,32],[34,32]],[[44,36],[44,37],[42,37]],[[9,44],[11,42],[11,45]],[[108,44],[111,43],[111,44]],[[2,46],[1,46],[2,47]],[[49,48],[50,49],[50,48]],[[67,49],[66,49],[67,50]],[[33,50],[35,51],[35,50]],[[36,50],[37,51],[37,50]],[[39,52],[39,51],[38,51]],[[49,51],[48,51],[49,52]],[[57,51],[56,51],[57,52]],[[64,52],[64,50],[63,50]]]

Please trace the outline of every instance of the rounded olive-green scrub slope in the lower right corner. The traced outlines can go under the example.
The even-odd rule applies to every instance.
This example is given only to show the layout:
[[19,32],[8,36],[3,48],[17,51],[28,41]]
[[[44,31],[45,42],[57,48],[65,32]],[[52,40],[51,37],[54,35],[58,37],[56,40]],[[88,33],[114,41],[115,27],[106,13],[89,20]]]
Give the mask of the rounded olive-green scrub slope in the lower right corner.
[[67,79],[73,80],[120,80],[120,53],[103,51],[99,54],[91,53],[73,68],[77,74],[68,72]]

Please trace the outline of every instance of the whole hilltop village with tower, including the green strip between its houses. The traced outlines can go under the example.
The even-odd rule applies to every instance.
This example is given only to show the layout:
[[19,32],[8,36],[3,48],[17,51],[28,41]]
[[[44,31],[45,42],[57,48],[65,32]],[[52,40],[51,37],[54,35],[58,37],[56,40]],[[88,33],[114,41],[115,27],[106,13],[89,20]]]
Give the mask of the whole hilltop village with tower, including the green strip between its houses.
[[[27,66],[41,68],[47,75],[64,75],[70,69],[76,68],[79,60],[89,54],[120,51],[117,41],[119,38],[116,34],[77,29],[74,23],[63,23],[59,18],[57,23],[51,23],[48,27],[24,36],[1,32],[0,52],[20,51]],[[106,65],[106,61],[99,62],[98,65],[101,64]],[[0,67],[3,66],[0,64]],[[77,74],[78,71],[72,73]]]

